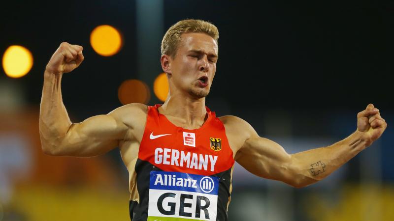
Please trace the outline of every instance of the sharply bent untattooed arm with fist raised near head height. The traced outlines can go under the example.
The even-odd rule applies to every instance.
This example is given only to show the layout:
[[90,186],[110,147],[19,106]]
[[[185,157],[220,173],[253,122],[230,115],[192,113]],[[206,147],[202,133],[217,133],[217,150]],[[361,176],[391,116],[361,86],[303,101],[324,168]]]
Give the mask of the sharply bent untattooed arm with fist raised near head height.
[[82,60],[82,47],[63,42],[52,55],[44,72],[39,132],[42,150],[49,155],[90,157],[103,154],[116,146],[128,130],[119,108],[81,123],[71,123],[62,100],[63,73],[77,68]]

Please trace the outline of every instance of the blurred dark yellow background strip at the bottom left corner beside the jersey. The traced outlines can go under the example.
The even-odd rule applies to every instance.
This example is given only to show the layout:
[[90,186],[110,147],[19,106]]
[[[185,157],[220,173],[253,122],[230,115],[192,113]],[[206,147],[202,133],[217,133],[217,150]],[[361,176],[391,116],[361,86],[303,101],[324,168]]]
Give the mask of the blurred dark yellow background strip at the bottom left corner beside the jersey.
[[113,188],[25,185],[15,189],[4,221],[127,221],[128,202],[127,191]]

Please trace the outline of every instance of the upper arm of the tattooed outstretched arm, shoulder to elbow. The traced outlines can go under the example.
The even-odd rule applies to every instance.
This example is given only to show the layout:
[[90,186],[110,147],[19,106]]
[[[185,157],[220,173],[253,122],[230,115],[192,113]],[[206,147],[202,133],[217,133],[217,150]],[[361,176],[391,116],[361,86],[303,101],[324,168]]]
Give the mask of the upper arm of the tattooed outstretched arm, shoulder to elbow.
[[253,134],[239,149],[236,161],[251,173],[291,184],[291,155],[278,143]]

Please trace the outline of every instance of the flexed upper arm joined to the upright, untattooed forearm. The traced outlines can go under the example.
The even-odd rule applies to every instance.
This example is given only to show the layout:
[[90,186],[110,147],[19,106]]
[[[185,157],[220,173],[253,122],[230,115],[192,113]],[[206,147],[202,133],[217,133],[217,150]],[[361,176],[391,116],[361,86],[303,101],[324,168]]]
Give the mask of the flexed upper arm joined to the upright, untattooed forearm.
[[71,124],[57,155],[92,157],[106,153],[118,146],[127,129],[111,113]]

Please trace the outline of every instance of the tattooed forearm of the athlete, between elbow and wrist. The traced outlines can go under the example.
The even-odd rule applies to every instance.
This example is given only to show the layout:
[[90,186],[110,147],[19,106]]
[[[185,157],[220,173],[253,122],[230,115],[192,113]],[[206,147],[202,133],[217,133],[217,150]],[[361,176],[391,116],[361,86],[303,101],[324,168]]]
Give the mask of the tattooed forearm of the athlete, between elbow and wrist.
[[369,145],[361,134],[362,132],[356,131],[328,147],[292,154],[292,165],[297,173],[295,186],[304,187],[324,179],[360,153]]

